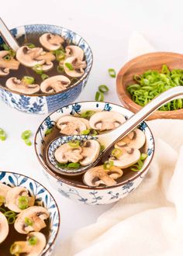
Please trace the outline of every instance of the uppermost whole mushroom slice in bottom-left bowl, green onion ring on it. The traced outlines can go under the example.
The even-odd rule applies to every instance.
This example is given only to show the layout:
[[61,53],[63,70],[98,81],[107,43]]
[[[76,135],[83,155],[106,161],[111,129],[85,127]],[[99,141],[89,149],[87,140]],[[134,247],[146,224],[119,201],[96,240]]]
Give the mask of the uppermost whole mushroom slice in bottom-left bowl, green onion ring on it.
[[22,212],[21,207],[19,208],[19,199],[22,196],[27,199],[27,207],[34,205],[35,199],[34,197],[29,196],[29,192],[27,189],[23,187],[14,187],[7,192],[7,195],[5,197],[5,206],[15,213]]

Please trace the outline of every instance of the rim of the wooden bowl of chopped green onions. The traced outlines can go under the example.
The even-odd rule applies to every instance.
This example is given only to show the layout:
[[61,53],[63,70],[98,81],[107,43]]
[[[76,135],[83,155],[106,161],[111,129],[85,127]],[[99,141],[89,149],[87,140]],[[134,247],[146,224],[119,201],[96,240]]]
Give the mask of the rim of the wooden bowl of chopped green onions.
[[[126,73],[126,71],[128,71],[129,69],[129,66],[131,64],[133,64],[134,61],[140,61],[141,58],[143,57],[148,57],[148,56],[154,56],[154,55],[162,55],[164,56],[164,54],[167,54],[167,55],[170,55],[172,57],[174,56],[179,56],[183,59],[183,54],[178,54],[178,53],[174,53],[174,52],[169,52],[169,51],[156,51],[156,52],[151,52],[151,53],[147,53],[147,54],[141,54],[140,56],[137,56],[137,57],[134,57],[132,60],[130,61],[127,61],[123,67],[120,68],[118,74],[117,74],[117,77],[116,77],[116,91],[117,91],[117,95],[118,95],[118,98],[119,98],[119,101],[122,102],[125,106],[127,105],[126,103],[126,100],[122,101],[121,100],[121,96],[125,96],[126,99],[128,99],[129,101],[129,110],[130,110],[130,106],[133,106],[134,108],[140,110],[142,109],[143,107],[136,104],[136,102],[133,102],[133,100],[131,99],[130,95],[128,92],[126,92],[126,89],[123,87],[123,83],[121,81],[121,79],[123,78],[123,75]],[[131,111],[131,110],[130,110]],[[167,115],[167,112],[168,113],[172,113],[173,115],[176,115],[176,114],[180,114],[182,113],[183,109],[178,109],[178,110],[170,110],[170,111],[163,111],[163,110],[156,110],[154,112],[154,114],[157,114],[158,116],[162,116],[161,118],[163,118],[163,116],[166,116]]]

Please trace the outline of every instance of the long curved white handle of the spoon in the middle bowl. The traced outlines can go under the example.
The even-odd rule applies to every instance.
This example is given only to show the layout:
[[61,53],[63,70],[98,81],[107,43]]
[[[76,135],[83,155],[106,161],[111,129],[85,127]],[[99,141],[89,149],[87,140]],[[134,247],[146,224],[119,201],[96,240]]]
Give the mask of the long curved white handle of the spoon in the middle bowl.
[[[123,123],[122,126],[119,126],[116,130],[113,130],[110,133],[99,135],[98,140],[101,144],[105,145],[105,150],[103,151],[104,154],[109,147],[114,146],[116,142],[133,131],[136,126],[138,126],[144,119],[147,119],[147,117],[150,116],[155,110],[159,109],[161,106],[173,99],[183,99],[183,86],[177,86],[161,93],[161,95],[158,95],[156,98],[150,101],[147,106],[144,106],[139,112],[136,112],[135,115],[131,116],[126,123]],[[183,115],[181,118],[183,119]],[[111,140],[113,141],[112,143]]]

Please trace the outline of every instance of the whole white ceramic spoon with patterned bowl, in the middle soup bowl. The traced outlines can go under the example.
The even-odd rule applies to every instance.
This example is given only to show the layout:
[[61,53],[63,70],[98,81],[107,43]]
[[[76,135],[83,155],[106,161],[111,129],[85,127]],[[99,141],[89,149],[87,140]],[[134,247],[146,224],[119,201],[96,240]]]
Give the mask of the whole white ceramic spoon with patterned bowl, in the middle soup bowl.
[[[123,125],[119,126],[115,130],[112,130],[109,133],[99,134],[97,136],[91,135],[74,135],[74,136],[64,136],[64,137],[57,137],[56,139],[52,140],[47,147],[46,152],[46,161],[49,167],[53,171],[57,171],[63,175],[81,175],[85,171],[90,168],[93,168],[95,165],[98,164],[100,161],[105,161],[106,157],[109,157],[109,153],[112,150],[112,147],[123,137],[125,137],[128,133],[133,131],[136,126],[138,126],[144,119],[147,119],[155,110],[159,109],[161,106],[170,102],[173,99],[183,99],[183,86],[177,86],[167,90],[166,92],[161,93],[155,99],[144,106],[139,112],[136,112],[135,115],[131,116],[129,119],[126,120]],[[183,115],[182,115],[183,119]],[[98,155],[97,160],[92,162],[87,166],[80,167],[76,170],[68,170],[63,167],[59,167],[57,160],[54,157],[54,152],[57,150],[57,147],[60,147],[61,144],[65,144],[71,140],[98,140],[98,142],[105,146],[105,150]],[[111,142],[112,141],[112,142]]]

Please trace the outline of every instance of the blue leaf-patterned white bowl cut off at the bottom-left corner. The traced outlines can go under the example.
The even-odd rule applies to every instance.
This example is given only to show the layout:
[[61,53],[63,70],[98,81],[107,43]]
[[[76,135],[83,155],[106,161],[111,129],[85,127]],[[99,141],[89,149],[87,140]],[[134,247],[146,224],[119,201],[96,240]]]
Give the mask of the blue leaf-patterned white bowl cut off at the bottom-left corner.
[[43,185],[40,185],[40,183],[33,180],[33,178],[29,178],[25,175],[19,175],[18,173],[0,171],[0,182],[3,182],[5,185],[9,185],[10,187],[25,187],[29,190],[31,195],[35,196],[36,203],[38,205],[47,208],[50,213],[50,232],[47,240],[47,246],[40,256],[50,256],[60,227],[60,213],[54,197],[43,187]]

